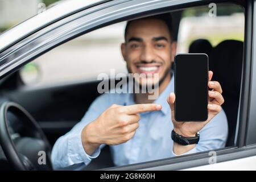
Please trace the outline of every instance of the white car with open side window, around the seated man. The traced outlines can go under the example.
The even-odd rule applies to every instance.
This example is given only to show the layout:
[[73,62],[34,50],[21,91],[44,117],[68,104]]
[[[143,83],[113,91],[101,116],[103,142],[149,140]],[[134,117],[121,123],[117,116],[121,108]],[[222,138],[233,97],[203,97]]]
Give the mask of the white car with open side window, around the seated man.
[[[216,3],[217,13],[228,13],[218,12],[218,7],[220,10],[225,7],[225,10],[233,13],[240,8],[239,12],[245,17],[245,23],[241,25],[242,40],[228,40],[228,36],[222,37],[220,42],[208,48],[204,45],[212,40],[197,35],[197,37],[189,37],[193,39],[190,46],[185,44],[189,52],[207,52],[211,55],[209,61],[218,60],[210,62],[210,67],[216,73],[216,78],[221,82],[224,90],[223,109],[229,124],[226,147],[127,166],[114,166],[109,148],[106,147],[101,155],[84,170],[255,170],[255,3],[254,1],[236,1],[236,3],[220,1],[218,3],[219,1],[204,0],[61,1],[43,13],[3,32],[0,35],[0,170],[51,170],[49,156],[52,145],[57,138],[67,133],[80,121],[85,110],[99,95],[97,92],[99,81],[89,77],[82,81],[74,78],[73,81],[54,82],[55,73],[61,72],[61,69],[68,70],[69,67],[79,67],[79,65],[76,65],[76,61],[73,60],[77,59],[76,52],[73,52],[73,59],[72,56],[69,57],[69,63],[60,61],[51,66],[51,62],[55,59],[54,56],[51,57],[52,52],[59,51],[57,53],[65,55],[67,52],[61,52],[63,50],[61,46],[72,43],[75,38],[97,31],[99,28],[141,16],[171,11],[174,23],[178,25],[183,16],[205,11],[200,7],[208,8],[209,2]],[[189,11],[184,15],[185,10]],[[209,32],[209,36],[214,33],[213,29],[213,32]],[[178,34],[181,35],[181,31],[184,30],[176,26],[176,39]],[[187,34],[196,35],[190,32]],[[228,32],[228,34],[232,33]],[[179,39],[177,41],[179,44]],[[92,41],[86,42],[88,46],[90,43]],[[107,46],[106,49],[108,49]],[[43,57],[43,60],[40,64],[34,64],[33,67],[30,62],[40,57]],[[52,61],[47,62],[47,59]],[[86,57],[83,59],[86,60]],[[101,61],[104,64],[108,59]],[[86,61],[84,63],[86,64]],[[97,64],[100,65],[101,62]],[[52,72],[40,76],[52,74],[50,77],[52,82],[39,86],[26,84],[21,72],[26,65],[30,65],[32,69],[39,72],[51,69]],[[94,68],[89,67],[89,69]],[[68,71],[65,73],[69,74]],[[46,164],[38,163],[40,156],[38,151],[46,151]]]

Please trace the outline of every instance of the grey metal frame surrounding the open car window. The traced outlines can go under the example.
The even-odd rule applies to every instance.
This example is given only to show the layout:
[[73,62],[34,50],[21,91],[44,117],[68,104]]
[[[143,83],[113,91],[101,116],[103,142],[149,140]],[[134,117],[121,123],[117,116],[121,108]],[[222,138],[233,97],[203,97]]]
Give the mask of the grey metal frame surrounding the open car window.
[[[0,79],[9,75],[11,72],[15,72],[20,67],[22,67],[24,64],[29,63],[30,61],[34,60],[36,57],[39,57],[43,53],[48,52],[49,50],[59,46],[60,44],[63,44],[65,42],[68,42],[69,40],[72,40],[76,38],[77,36],[84,35],[87,32],[96,30],[97,28],[105,27],[110,24],[122,22],[123,20],[127,19],[133,19],[137,18],[139,16],[147,16],[151,14],[158,14],[158,13],[165,13],[167,11],[177,10],[177,9],[184,9],[187,7],[195,7],[200,5],[208,5],[210,2],[216,2],[216,1],[144,1],[144,0],[135,0],[135,1],[109,1],[102,3],[100,5],[97,5],[95,7],[91,7],[93,11],[86,10],[77,12],[76,14],[70,15],[68,17],[65,17],[64,19],[59,20],[58,22],[55,22],[51,25],[48,25],[47,27],[42,28],[38,32],[35,32],[34,34],[28,36],[27,38],[23,39],[22,41],[16,43],[14,46],[10,47],[9,49],[6,49],[3,52],[0,52],[0,63],[2,61],[5,61],[6,63],[9,63],[9,61],[16,59],[18,60],[16,64],[10,64],[5,67],[5,69],[1,69],[3,65],[0,66]],[[230,2],[230,1],[220,1],[220,2]],[[90,15],[86,15],[88,12],[93,12],[94,15],[97,15],[95,13],[98,13],[100,11],[105,11],[111,9],[113,6],[127,6],[125,3],[131,3],[134,5],[133,12],[131,13],[131,9],[129,11],[129,8],[126,11],[123,11],[122,15],[113,14],[115,18],[110,18],[109,20],[101,20],[100,23],[94,24],[94,26],[86,26],[86,24],[80,25],[81,27],[79,31],[73,32],[71,34],[70,32],[65,32],[68,30],[68,27],[72,27],[76,25],[76,23],[79,23],[77,20],[83,20],[82,18]],[[144,4],[143,4],[144,3]],[[146,4],[145,4],[146,3]],[[253,34],[253,3],[251,1],[246,1],[245,6],[245,47],[244,47],[244,59],[243,59],[243,76],[242,76],[242,84],[241,84],[241,96],[240,96],[240,113],[239,113],[239,129],[238,129],[238,145],[234,147],[225,147],[220,148],[218,150],[215,150],[217,152],[217,161],[227,161],[236,159],[239,156],[251,156],[255,154],[256,146],[246,146],[246,132],[247,132],[247,126],[248,126],[248,118],[247,114],[249,111],[249,101],[250,101],[250,85],[252,80],[251,70],[253,69],[250,67],[252,64],[252,52],[250,47],[252,46],[252,39],[254,38]],[[136,9],[137,8],[137,9]],[[98,12],[97,12],[98,11]],[[92,14],[93,14],[92,13]],[[126,14],[125,14],[126,13]],[[77,17],[77,15],[80,15]],[[107,16],[108,17],[108,16]],[[110,16],[111,17],[111,16]],[[75,24],[74,24],[75,23]],[[81,23],[81,22],[80,22]],[[95,22],[94,22],[95,23]],[[59,29],[58,29],[59,28]],[[70,28],[70,27],[69,27]],[[44,32],[46,31],[46,32]],[[59,42],[51,42],[48,40],[49,38],[54,38],[54,36],[49,35],[51,32],[56,32],[60,34],[61,32],[65,32],[65,35],[58,37]],[[47,35],[49,35],[47,37]],[[38,47],[34,52],[31,51],[30,53],[27,53],[27,48],[33,45],[42,44],[41,47]],[[26,47],[27,46],[27,47]],[[16,54],[15,54],[16,53]],[[20,54],[19,54],[20,53]],[[255,64],[254,64],[255,65]],[[255,69],[254,69],[255,70]],[[191,155],[185,155],[185,156],[176,156],[175,158],[167,158],[167,159],[160,159],[145,163],[137,163],[137,164],[130,164],[127,166],[122,167],[112,167],[109,169],[120,169],[120,170],[143,170],[143,169],[183,169],[183,168],[189,168],[189,167],[196,167],[196,166],[202,166],[208,163],[209,155],[208,151],[199,152],[197,154],[191,154]]]

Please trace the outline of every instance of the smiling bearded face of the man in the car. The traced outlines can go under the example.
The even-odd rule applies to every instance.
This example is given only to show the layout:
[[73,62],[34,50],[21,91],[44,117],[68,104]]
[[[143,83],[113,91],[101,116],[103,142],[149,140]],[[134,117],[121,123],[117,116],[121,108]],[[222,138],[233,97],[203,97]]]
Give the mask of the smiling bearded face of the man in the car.
[[[142,80],[135,79],[139,85],[155,85],[159,81],[170,80],[168,73],[176,53],[176,43],[171,41],[168,26],[163,20],[141,19],[131,22],[126,43],[122,44],[121,49],[129,73],[147,75]],[[155,74],[158,74],[156,80]]]

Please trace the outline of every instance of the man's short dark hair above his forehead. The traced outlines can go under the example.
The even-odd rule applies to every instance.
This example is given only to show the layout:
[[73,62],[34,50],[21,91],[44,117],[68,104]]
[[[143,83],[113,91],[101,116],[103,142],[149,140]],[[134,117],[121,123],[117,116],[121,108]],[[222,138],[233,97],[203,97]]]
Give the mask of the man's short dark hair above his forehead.
[[130,26],[130,23],[135,21],[135,20],[143,20],[143,19],[160,19],[160,20],[163,20],[167,24],[171,40],[174,39],[171,13],[164,13],[164,14],[152,15],[152,16],[147,16],[147,17],[144,17],[144,18],[129,20],[126,23],[126,27],[125,27],[125,41],[126,41],[127,31],[128,31],[129,26]]

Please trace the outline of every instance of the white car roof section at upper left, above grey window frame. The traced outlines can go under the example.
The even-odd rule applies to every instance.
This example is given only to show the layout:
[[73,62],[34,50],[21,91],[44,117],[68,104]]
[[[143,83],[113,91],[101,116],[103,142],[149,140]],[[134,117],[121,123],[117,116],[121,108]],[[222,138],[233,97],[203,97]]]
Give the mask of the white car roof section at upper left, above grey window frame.
[[57,19],[63,18],[85,7],[96,5],[106,0],[65,0],[60,1],[57,5],[52,6],[48,10],[33,16],[30,19],[16,25],[10,30],[0,35],[0,52],[15,43],[24,36],[30,35],[32,32],[55,22]]

